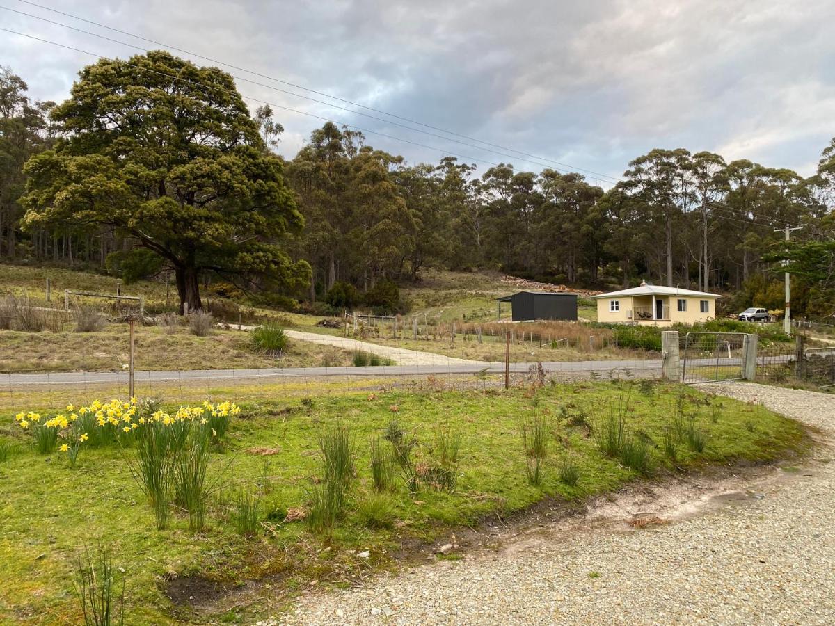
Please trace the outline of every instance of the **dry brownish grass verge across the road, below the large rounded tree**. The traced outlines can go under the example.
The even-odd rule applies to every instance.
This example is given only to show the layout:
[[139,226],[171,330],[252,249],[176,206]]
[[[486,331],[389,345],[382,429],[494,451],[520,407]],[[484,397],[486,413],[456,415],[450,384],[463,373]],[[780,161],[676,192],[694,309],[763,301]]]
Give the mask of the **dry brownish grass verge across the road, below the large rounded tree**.
[[[216,329],[198,337],[186,327],[137,326],[137,370],[241,369],[351,365],[347,351],[290,341],[276,358],[252,351],[249,334]],[[0,371],[121,371],[129,361],[127,324],[78,333],[0,331]]]

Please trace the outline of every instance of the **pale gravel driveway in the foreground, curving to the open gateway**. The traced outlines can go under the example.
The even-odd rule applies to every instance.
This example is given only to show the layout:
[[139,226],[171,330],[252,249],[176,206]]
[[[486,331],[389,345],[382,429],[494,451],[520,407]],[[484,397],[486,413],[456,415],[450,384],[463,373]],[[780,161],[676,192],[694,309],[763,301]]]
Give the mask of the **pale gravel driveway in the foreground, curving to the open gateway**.
[[[835,396],[745,383],[705,386],[818,427],[798,471],[763,471],[720,497],[686,497],[636,529],[557,523],[467,553],[310,593],[263,623],[835,623]],[[634,513],[646,503],[635,503]]]

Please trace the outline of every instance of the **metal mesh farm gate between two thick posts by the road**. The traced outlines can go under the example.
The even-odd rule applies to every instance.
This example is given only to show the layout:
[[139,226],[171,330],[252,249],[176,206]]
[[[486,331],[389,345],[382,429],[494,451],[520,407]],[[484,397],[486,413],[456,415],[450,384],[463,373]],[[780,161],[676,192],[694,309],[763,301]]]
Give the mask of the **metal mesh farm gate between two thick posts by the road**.
[[684,336],[681,382],[741,381],[745,378],[745,348],[741,332],[688,332]]

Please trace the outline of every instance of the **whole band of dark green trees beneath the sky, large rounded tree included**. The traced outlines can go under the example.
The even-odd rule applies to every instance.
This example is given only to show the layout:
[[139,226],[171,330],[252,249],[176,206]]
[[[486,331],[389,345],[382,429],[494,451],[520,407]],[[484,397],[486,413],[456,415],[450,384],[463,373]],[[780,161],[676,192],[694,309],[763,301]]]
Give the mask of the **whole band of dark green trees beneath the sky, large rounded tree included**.
[[[835,139],[808,178],[653,149],[602,189],[557,169],[409,164],[331,123],[283,159],[282,131],[227,73],[169,53],[83,68],[58,105],[31,102],[3,68],[0,258],[168,272],[192,308],[209,281],[279,304],[393,305],[391,285],[428,265],[600,288],[643,279],[777,308],[787,262],[793,308],[835,310]],[[789,245],[787,225],[802,227]]]

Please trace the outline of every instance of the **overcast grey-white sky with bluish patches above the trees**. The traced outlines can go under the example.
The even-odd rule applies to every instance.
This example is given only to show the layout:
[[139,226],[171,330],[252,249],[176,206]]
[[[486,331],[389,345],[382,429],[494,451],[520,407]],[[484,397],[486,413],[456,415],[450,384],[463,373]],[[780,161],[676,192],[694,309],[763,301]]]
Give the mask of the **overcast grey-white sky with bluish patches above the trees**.
[[[438,148],[367,134],[368,143],[410,162],[460,154],[482,169],[483,161],[504,161],[519,169],[550,165],[618,176],[650,149],[684,147],[808,175],[835,136],[832,0],[36,1],[571,167],[535,165],[518,154],[511,159],[238,80],[245,96]],[[161,48],[19,0],[0,6]],[[139,52],[5,10],[0,27],[102,56]],[[35,99],[66,98],[78,69],[94,60],[0,31],[0,64],[20,74]],[[287,156],[322,124],[280,110],[276,119],[286,129],[280,151]],[[507,153],[504,148],[491,149]],[[594,174],[589,178],[596,182]]]

